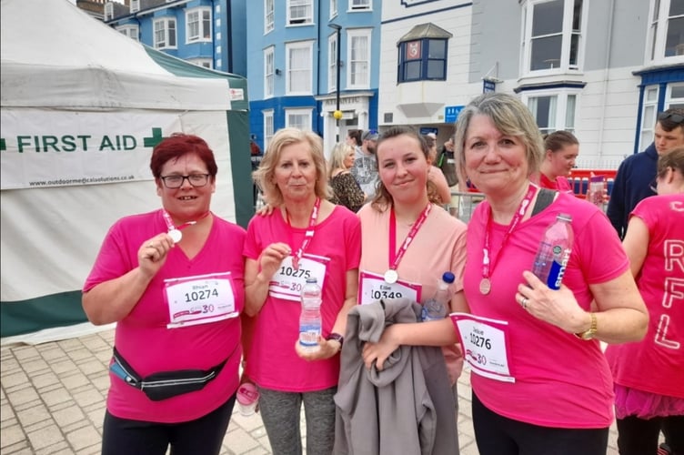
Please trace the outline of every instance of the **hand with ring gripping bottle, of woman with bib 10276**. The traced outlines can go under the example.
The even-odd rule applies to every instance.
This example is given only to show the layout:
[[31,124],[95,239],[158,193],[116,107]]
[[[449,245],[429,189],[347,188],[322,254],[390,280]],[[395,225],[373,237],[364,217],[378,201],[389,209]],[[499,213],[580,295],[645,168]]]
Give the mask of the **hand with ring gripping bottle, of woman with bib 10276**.
[[528,284],[518,285],[516,301],[529,314],[568,333],[588,329],[588,312],[579,307],[568,287],[561,285],[558,290],[548,288],[530,271],[524,271],[522,276]]

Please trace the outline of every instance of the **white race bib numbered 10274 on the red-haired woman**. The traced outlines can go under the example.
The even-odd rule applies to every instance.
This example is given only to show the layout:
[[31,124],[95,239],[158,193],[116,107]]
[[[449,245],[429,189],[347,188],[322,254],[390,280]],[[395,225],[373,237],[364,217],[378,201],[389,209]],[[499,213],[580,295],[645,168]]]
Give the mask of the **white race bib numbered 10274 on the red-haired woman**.
[[230,272],[164,280],[168,329],[236,318]]

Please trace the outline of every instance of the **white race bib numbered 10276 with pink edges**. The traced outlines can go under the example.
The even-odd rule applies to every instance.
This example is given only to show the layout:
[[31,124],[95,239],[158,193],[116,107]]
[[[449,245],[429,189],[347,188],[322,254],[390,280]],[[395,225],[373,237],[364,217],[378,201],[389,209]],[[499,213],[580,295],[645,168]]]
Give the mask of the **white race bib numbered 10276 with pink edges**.
[[489,379],[515,382],[508,369],[508,322],[451,313],[464,357],[472,371]]

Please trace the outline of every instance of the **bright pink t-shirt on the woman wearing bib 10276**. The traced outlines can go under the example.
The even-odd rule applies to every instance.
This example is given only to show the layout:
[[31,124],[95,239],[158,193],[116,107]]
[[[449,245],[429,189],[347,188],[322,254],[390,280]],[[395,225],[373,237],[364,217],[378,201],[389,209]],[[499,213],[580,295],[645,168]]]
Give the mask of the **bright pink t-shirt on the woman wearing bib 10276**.
[[563,283],[580,307],[589,309],[589,284],[603,283],[629,270],[629,262],[608,218],[598,207],[567,193],[521,222],[501,242],[508,226],[492,223],[491,292],[482,295],[484,235],[488,202],[478,205],[468,223],[465,291],[473,314],[508,321],[508,361],[516,379],[508,383],[472,374],[478,398],[508,419],[558,428],[604,428],[613,420],[612,379],[599,341],[585,341],[532,317],[515,301],[525,282],[544,230],[559,213],[572,216],[574,246]]

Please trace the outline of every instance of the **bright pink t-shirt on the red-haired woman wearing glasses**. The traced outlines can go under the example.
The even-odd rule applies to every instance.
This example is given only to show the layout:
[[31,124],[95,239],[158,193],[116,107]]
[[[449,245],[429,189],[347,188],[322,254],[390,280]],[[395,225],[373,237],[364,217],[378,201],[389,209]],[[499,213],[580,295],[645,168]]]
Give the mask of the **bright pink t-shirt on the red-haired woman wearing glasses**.
[[[124,217],[110,228],[83,290],[121,277],[137,267],[140,245],[166,232],[162,210]],[[216,379],[204,389],[170,399],[152,401],[110,373],[107,410],[116,417],[174,423],[195,420],[226,402],[236,392],[240,348],[240,320],[224,319],[178,329],[167,329],[166,278],[230,272],[236,310],[244,307],[244,262],[239,252],[245,229],[214,216],[209,237],[195,258],[172,248],[166,263],[147,286],[136,307],[116,323],[115,346],[121,356],[145,377],[159,371],[210,369],[228,359]]]

